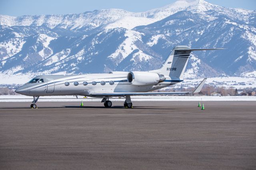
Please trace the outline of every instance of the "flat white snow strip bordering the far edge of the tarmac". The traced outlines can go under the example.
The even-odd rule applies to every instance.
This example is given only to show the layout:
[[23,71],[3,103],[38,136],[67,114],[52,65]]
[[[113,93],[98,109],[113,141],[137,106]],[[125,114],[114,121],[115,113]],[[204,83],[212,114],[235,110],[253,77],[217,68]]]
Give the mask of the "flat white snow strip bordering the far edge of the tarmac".
[[[132,101],[256,101],[256,96],[132,96]],[[32,96],[2,95],[0,102],[32,102]],[[100,102],[102,98],[78,96],[40,96],[39,102]],[[124,98],[111,98],[124,101]]]

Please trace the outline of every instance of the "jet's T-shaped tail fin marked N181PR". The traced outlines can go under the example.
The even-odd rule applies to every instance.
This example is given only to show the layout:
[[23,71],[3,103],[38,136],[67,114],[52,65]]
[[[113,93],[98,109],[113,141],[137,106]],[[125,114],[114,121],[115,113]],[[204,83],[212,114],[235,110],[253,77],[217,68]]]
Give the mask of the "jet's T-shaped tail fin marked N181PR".
[[[218,48],[220,49],[220,48]],[[204,50],[218,50],[218,49],[191,49],[184,45],[178,45],[174,47],[164,64],[158,70],[152,70],[150,72],[157,72],[164,74],[170,78],[183,78],[186,66],[188,64],[188,58],[192,51],[204,51]]]

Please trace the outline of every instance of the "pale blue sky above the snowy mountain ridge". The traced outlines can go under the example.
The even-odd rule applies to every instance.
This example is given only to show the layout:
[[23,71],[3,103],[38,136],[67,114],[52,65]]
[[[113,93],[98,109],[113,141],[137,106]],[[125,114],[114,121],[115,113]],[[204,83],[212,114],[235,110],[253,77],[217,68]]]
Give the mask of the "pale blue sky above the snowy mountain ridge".
[[[0,0],[0,14],[9,16],[41,14],[78,14],[86,11],[120,8],[143,12],[171,4],[176,0]],[[231,8],[256,10],[256,0],[206,0]]]

